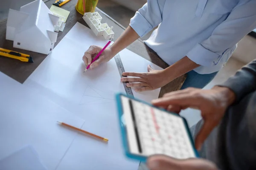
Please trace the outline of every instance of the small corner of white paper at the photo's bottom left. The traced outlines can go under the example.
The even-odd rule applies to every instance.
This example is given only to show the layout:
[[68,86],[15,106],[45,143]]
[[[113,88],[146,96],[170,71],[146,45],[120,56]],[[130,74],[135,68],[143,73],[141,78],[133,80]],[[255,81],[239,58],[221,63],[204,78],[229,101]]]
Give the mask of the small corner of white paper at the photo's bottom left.
[[47,170],[32,146],[26,146],[0,160],[0,170]]

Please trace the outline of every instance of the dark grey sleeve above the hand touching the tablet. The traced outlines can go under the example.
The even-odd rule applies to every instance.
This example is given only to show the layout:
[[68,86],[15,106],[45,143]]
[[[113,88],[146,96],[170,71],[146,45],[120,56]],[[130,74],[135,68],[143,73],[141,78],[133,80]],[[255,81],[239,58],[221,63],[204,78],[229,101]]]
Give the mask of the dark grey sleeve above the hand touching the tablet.
[[233,77],[219,86],[230,88],[236,94],[236,102],[256,90],[256,59],[242,67]]

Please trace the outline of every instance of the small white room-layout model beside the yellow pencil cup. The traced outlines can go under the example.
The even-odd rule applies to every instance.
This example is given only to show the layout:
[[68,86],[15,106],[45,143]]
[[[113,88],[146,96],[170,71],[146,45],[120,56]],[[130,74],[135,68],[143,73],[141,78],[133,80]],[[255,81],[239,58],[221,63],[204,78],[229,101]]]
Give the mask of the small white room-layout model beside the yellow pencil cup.
[[106,40],[114,37],[113,27],[110,28],[107,23],[102,24],[102,17],[98,12],[86,12],[83,19],[96,36],[102,35]]

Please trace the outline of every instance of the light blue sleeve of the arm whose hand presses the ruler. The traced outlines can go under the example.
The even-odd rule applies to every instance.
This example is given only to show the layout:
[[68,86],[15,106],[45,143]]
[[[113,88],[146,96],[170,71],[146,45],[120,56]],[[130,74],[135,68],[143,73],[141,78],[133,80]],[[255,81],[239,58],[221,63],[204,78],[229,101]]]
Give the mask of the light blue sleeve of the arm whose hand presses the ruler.
[[218,64],[222,55],[232,49],[246,34],[256,28],[256,0],[244,0],[230,12],[212,35],[198,43],[187,57],[202,66]]

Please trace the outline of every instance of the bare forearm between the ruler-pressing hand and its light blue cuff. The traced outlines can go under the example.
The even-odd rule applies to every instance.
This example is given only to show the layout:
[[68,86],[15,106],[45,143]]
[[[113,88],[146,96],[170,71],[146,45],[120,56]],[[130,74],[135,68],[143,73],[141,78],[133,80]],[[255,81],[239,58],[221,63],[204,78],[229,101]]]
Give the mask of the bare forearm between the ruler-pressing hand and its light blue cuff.
[[175,62],[173,65],[170,65],[168,68],[166,68],[164,70],[164,74],[166,74],[167,79],[169,79],[169,82],[171,82],[177,77],[180,77],[199,66],[200,65],[196,64],[185,56],[179,61]]

